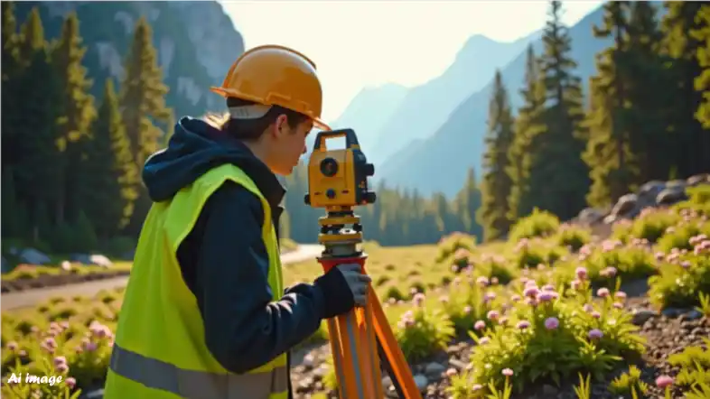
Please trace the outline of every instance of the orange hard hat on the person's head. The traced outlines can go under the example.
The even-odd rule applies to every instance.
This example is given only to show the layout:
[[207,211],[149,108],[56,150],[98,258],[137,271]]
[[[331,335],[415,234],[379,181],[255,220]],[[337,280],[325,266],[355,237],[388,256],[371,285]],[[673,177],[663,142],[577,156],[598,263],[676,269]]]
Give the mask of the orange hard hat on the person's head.
[[222,86],[211,91],[266,106],[291,109],[322,122],[322,87],[315,64],[304,54],[285,46],[268,44],[245,51],[229,68]]

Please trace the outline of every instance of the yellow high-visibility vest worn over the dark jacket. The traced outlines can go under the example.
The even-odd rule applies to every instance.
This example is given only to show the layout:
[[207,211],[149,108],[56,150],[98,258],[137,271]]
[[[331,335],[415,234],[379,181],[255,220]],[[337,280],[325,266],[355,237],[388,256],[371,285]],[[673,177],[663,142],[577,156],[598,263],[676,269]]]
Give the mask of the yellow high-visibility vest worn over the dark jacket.
[[271,208],[254,181],[237,166],[214,168],[173,200],[154,203],[138,241],[118,318],[105,399],[287,397],[286,354],[245,374],[230,373],[220,365],[205,343],[197,299],[182,280],[177,249],[210,195],[228,180],[261,200],[268,283],[274,300],[284,291]]

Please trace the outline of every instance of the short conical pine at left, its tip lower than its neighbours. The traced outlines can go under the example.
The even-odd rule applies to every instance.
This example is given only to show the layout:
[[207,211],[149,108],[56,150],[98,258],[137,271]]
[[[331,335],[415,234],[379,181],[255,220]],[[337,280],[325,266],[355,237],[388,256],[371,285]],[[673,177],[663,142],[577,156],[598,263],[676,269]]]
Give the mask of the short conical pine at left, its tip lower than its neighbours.
[[138,168],[118,110],[112,79],[107,79],[98,117],[91,129],[86,168],[89,187],[84,211],[100,238],[117,236],[129,221],[137,198]]

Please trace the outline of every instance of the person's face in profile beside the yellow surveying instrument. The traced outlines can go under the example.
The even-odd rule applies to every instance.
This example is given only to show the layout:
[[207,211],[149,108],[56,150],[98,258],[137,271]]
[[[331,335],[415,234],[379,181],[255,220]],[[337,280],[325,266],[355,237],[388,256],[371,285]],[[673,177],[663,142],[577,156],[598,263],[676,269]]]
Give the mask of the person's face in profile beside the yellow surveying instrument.
[[306,153],[305,137],[313,129],[313,121],[305,121],[292,128],[285,115],[278,116],[274,124],[273,142],[270,148],[270,168],[283,176],[294,172],[301,155]]

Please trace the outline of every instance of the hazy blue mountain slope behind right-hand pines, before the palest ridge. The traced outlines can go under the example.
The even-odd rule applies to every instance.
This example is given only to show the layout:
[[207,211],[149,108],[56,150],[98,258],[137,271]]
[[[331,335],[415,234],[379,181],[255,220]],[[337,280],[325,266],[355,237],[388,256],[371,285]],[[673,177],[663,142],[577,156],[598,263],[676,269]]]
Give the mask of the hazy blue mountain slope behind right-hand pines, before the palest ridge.
[[[596,53],[611,44],[610,40],[593,37],[592,26],[601,25],[602,17],[600,6],[569,28],[571,55],[578,63],[576,73],[582,78],[585,91],[586,82],[595,72]],[[537,39],[533,42],[533,48],[539,55],[543,48],[542,41]],[[501,70],[514,108],[522,104],[519,90],[523,86],[525,52],[520,51],[515,60]],[[378,169],[377,180],[385,180],[392,186],[416,188],[425,195],[439,191],[451,198],[461,189],[468,168],[473,167],[480,177],[492,78],[491,73],[487,76],[490,83],[463,100],[434,135],[409,144],[389,157],[388,162]]]

